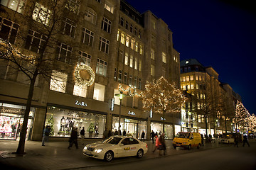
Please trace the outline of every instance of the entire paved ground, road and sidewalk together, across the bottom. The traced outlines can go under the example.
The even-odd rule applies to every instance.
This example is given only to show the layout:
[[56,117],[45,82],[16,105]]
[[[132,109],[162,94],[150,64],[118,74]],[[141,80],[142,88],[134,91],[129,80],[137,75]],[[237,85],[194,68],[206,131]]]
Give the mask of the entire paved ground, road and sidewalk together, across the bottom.
[[[86,143],[94,142],[87,140]],[[68,149],[68,142],[47,142],[46,147],[41,142],[26,142],[26,155],[16,156],[18,142],[0,141],[1,169],[255,169],[256,167],[256,142],[250,140],[250,147],[233,147],[207,143],[200,149],[173,149],[171,140],[166,141],[167,155],[159,156],[152,153],[151,141],[147,141],[149,152],[142,159],[126,157],[105,162],[92,159],[82,154],[82,147],[75,146]],[[206,168],[207,167],[207,168]]]

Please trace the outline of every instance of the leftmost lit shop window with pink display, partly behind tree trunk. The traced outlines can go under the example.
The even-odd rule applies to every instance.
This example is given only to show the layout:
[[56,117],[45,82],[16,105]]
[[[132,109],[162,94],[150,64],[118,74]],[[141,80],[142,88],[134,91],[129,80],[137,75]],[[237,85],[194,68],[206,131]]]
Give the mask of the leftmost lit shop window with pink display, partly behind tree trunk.
[[[18,140],[23,125],[26,106],[0,103],[0,140]],[[26,140],[31,140],[35,108],[31,108],[28,117]]]

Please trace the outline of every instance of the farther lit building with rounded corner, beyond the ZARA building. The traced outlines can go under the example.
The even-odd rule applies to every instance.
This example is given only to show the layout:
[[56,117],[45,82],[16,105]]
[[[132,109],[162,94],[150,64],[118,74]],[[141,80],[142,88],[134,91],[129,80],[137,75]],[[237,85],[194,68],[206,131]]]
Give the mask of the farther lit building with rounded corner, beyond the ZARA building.
[[213,67],[204,67],[196,59],[182,60],[181,89],[188,97],[181,111],[183,131],[208,135],[235,131],[232,118],[239,95],[230,85],[220,83]]

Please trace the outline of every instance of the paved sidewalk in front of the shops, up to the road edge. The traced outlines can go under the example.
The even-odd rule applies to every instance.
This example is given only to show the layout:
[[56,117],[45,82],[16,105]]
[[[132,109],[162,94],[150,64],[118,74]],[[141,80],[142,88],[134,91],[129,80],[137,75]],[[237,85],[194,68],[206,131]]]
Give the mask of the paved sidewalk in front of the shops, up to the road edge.
[[[85,140],[85,145],[96,142],[98,140]],[[142,159],[136,157],[126,157],[113,159],[112,162],[104,162],[100,159],[92,159],[82,154],[82,148],[79,142],[79,149],[73,146],[68,149],[68,142],[46,142],[46,147],[41,146],[41,142],[26,141],[25,152],[23,156],[11,154],[16,152],[18,141],[0,141],[0,164],[1,169],[4,166],[6,169],[11,167],[14,169],[82,169],[92,166],[105,166],[106,164],[122,164],[127,162],[143,161],[143,159],[156,159],[161,157],[170,157],[175,154],[186,154],[197,152],[198,150],[211,149],[214,147],[227,147],[231,145],[223,145],[218,142],[206,143],[200,149],[192,148],[191,150],[172,147],[172,140],[166,140],[167,155],[159,156],[158,151],[152,152],[154,145],[151,141],[145,141],[148,144],[148,152],[144,154]],[[252,142],[250,140],[249,142]],[[255,142],[255,141],[254,141]],[[242,145],[240,144],[242,147]],[[233,147],[233,145],[232,145]]]

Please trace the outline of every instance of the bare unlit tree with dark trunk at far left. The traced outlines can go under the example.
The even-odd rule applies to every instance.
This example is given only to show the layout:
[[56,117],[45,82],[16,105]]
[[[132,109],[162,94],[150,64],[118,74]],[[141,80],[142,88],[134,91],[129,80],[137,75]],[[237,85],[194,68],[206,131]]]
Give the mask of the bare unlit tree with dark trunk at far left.
[[[63,13],[66,13],[69,9],[67,0],[41,1],[43,5],[37,1],[29,2],[24,6],[23,18],[19,18],[19,22],[26,23],[26,26],[19,30],[16,43],[11,45],[6,40],[1,40],[0,42],[0,58],[7,61],[9,67],[22,72],[29,80],[26,110],[16,154],[25,153],[28,115],[31,111],[31,101],[36,79],[41,75],[41,77],[50,81],[53,65],[60,60],[61,56],[56,57],[56,47],[58,46],[58,40],[60,40],[58,35],[63,33],[63,16],[65,16]],[[8,15],[6,11],[3,13]],[[40,36],[40,42],[31,39],[31,30],[35,30],[33,33],[37,33]],[[65,60],[70,62],[71,55],[66,56]],[[54,69],[60,71],[66,68],[54,67]]]

